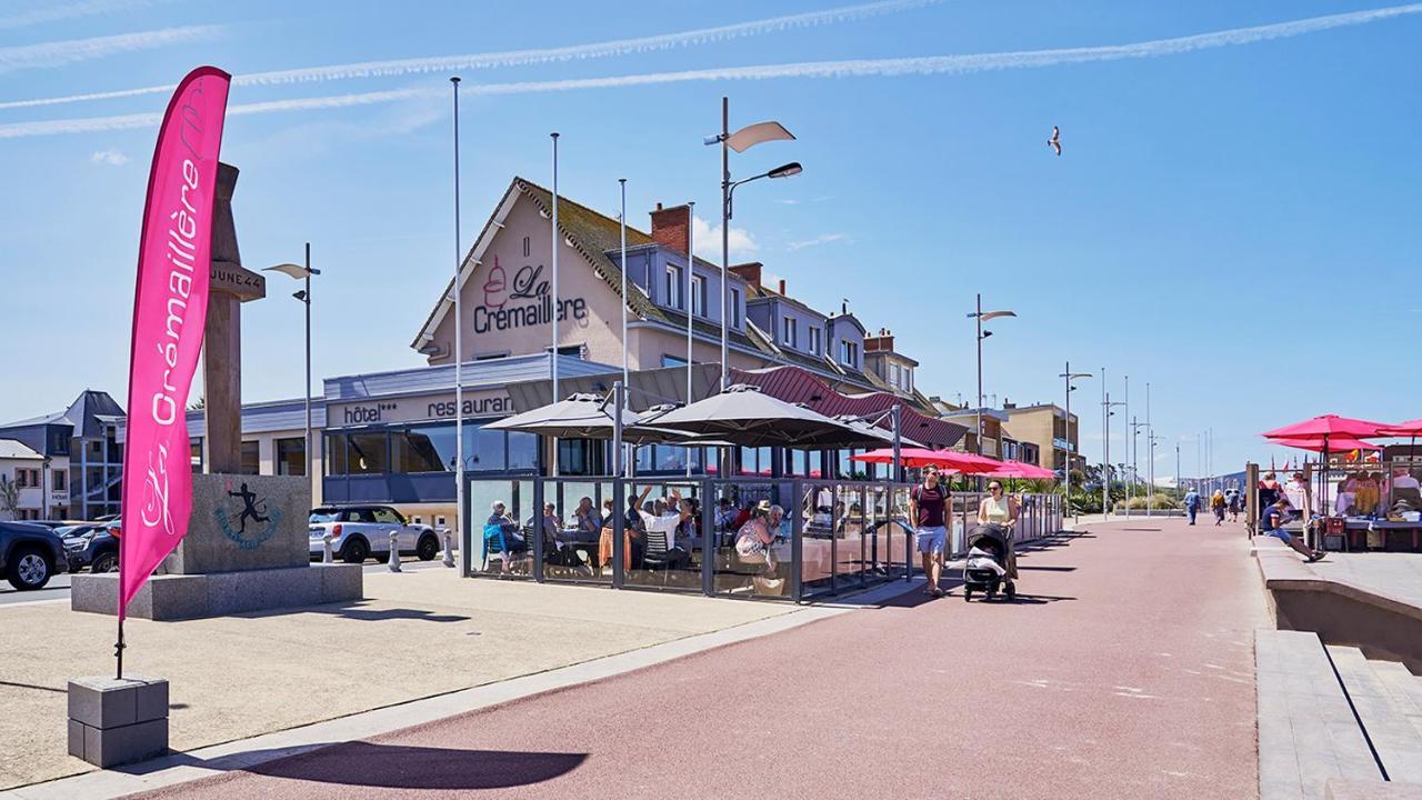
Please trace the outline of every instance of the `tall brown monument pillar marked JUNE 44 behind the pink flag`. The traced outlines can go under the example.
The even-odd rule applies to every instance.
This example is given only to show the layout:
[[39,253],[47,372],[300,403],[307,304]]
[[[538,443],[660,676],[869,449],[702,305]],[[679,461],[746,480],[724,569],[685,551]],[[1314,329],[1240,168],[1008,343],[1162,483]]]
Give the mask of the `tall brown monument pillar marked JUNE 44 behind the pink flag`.
[[212,280],[202,339],[203,471],[242,471],[242,303],[266,298],[266,278],[242,268],[232,192],[237,168],[218,165],[212,204]]

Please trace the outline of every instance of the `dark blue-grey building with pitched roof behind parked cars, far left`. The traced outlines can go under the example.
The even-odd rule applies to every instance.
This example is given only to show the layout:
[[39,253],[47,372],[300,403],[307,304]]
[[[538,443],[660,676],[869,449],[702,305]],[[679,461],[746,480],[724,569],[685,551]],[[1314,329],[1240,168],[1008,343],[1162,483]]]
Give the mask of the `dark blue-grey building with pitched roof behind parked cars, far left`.
[[117,431],[122,421],[124,409],[108,393],[85,390],[63,411],[0,426],[0,438],[18,441],[41,458],[40,517],[118,514],[124,448]]

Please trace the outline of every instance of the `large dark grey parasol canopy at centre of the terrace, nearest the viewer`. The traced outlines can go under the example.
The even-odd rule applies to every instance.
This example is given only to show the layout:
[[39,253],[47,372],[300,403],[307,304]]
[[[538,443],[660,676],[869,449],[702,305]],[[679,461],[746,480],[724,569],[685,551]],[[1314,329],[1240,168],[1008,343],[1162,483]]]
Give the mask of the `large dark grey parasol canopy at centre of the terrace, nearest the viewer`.
[[855,430],[744,384],[660,414],[654,421],[648,419],[648,423],[741,447],[875,447],[884,441],[876,433]]

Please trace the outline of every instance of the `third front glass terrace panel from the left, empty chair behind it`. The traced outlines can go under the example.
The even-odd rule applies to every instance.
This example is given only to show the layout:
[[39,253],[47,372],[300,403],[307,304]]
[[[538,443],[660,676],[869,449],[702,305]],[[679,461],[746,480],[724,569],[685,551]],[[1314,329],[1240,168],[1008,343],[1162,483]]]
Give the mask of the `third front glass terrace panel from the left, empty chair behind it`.
[[629,483],[638,507],[633,521],[629,586],[701,591],[704,558],[701,484]]

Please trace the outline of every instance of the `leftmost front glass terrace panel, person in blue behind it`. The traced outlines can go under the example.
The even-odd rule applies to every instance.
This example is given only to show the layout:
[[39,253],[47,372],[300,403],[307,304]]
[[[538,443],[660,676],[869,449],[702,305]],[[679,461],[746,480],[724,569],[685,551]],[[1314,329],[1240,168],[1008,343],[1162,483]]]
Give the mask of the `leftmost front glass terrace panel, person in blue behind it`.
[[533,481],[471,480],[471,541],[465,542],[471,569],[486,575],[532,577],[529,537],[533,528],[523,521],[533,517]]

